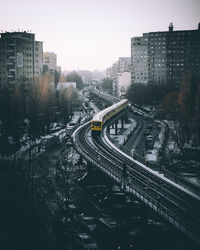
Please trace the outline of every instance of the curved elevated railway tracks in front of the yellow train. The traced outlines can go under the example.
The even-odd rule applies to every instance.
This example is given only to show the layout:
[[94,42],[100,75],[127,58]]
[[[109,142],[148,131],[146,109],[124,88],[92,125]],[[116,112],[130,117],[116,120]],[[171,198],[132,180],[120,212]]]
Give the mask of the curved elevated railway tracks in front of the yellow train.
[[[149,172],[120,150],[111,148],[102,135],[91,137],[89,130],[90,122],[74,133],[77,151],[92,164],[104,168],[110,176],[121,180],[147,205],[200,243],[200,198]],[[126,177],[123,175],[124,164],[127,166]]]

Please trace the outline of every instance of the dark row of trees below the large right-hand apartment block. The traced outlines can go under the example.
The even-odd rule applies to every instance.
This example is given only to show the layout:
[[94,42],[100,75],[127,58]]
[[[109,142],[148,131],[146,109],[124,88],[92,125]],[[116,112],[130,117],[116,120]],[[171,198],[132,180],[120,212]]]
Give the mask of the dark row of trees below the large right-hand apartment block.
[[180,86],[132,84],[127,91],[132,104],[155,106],[162,119],[175,121],[174,140],[200,146],[200,80],[185,74]]

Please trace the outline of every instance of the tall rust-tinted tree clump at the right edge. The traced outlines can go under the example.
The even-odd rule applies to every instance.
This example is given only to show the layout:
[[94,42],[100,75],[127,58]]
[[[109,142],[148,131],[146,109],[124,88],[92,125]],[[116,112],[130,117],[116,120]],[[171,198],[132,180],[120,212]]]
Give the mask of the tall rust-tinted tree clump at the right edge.
[[180,88],[166,95],[160,103],[163,116],[175,121],[174,140],[200,146],[200,81],[185,75]]

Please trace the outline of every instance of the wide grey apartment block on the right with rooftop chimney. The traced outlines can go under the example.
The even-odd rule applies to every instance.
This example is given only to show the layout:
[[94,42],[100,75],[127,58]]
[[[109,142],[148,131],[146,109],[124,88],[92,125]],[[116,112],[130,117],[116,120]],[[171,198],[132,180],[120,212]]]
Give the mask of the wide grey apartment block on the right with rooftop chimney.
[[185,73],[200,79],[200,25],[197,30],[144,33],[131,39],[131,82],[179,85]]

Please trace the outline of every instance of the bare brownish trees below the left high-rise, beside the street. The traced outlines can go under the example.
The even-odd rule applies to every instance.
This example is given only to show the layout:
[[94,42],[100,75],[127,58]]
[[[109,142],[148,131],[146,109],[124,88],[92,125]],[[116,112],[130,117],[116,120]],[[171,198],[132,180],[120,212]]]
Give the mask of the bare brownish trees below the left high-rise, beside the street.
[[32,81],[23,79],[16,84],[0,85],[0,154],[12,155],[26,139],[36,140],[50,133],[51,125],[64,126],[72,114],[75,97],[72,87],[56,90],[60,78],[77,82],[82,79],[76,72],[66,77],[49,71]]

